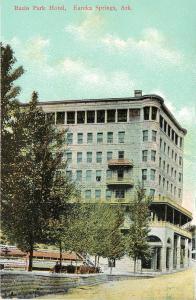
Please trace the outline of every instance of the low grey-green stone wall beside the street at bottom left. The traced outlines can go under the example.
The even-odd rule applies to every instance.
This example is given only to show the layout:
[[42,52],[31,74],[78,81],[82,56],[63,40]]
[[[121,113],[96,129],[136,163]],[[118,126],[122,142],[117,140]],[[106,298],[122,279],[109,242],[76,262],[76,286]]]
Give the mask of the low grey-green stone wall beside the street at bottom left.
[[79,285],[95,285],[107,281],[105,274],[59,275],[40,272],[1,272],[2,298],[34,298],[67,292]]

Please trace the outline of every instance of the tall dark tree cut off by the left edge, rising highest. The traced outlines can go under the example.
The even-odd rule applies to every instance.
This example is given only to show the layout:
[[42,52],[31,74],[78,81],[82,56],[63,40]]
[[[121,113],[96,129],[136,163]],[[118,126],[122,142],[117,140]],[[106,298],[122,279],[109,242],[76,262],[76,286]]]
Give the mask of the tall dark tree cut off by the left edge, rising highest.
[[13,189],[14,160],[19,151],[12,130],[17,122],[17,96],[21,91],[15,81],[22,76],[24,69],[22,66],[14,68],[16,61],[11,47],[1,44],[1,194],[4,201]]

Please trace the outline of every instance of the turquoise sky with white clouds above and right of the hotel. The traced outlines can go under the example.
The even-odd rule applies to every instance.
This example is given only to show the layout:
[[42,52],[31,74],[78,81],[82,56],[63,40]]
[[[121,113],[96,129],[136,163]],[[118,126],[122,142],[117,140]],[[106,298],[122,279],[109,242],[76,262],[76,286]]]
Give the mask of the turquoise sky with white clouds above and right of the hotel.
[[[188,130],[183,205],[196,216],[196,1],[2,0],[1,6],[3,41],[25,69],[17,82],[22,102],[33,90],[40,101],[129,97],[134,89],[164,98]],[[92,9],[78,9],[86,6]],[[111,10],[100,10],[106,6]]]

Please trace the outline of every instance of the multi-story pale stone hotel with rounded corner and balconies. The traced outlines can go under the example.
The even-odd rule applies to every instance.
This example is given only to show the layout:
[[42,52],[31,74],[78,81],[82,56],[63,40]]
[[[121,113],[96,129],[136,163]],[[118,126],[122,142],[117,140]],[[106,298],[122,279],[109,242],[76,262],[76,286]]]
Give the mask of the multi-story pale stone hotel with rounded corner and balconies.
[[67,175],[87,202],[130,203],[142,182],[153,197],[143,267],[166,271],[188,266],[191,213],[181,206],[186,130],[157,95],[40,102],[58,127],[67,128]]

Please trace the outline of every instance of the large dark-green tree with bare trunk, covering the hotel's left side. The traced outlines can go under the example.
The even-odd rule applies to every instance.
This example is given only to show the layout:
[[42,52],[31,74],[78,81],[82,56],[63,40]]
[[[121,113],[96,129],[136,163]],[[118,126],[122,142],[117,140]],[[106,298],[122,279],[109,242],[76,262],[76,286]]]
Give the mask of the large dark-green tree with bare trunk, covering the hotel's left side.
[[19,151],[13,164],[13,189],[2,205],[2,229],[29,253],[30,271],[36,243],[46,239],[48,222],[65,210],[73,188],[64,174],[65,132],[46,118],[37,99],[33,92],[13,128]]

